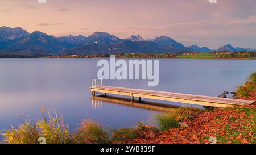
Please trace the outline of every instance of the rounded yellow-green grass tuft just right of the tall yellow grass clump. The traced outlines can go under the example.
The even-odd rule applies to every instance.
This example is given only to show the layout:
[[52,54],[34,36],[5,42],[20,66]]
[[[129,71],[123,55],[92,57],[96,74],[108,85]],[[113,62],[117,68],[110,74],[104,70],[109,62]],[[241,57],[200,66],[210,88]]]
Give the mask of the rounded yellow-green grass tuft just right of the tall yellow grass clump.
[[73,135],[76,143],[109,143],[110,133],[100,123],[93,120],[84,120],[80,123],[80,127]]

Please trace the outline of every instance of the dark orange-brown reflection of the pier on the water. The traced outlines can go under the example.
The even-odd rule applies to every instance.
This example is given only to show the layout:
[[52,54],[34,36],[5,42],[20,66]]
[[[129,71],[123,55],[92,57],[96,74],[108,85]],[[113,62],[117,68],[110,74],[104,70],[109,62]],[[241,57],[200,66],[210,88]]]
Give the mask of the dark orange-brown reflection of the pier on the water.
[[157,102],[148,102],[148,101],[139,101],[139,100],[131,100],[129,98],[121,98],[115,97],[113,95],[98,95],[91,97],[92,99],[92,108],[102,108],[103,102],[119,104],[122,106],[129,106],[134,108],[143,108],[146,110],[152,111],[170,111],[172,108],[179,108],[179,106],[167,105]]

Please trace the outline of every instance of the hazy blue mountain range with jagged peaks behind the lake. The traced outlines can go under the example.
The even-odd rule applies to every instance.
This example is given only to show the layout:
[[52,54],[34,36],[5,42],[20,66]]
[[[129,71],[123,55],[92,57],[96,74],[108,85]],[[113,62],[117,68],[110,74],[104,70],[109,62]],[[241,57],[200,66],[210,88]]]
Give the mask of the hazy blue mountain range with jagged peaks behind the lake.
[[0,54],[15,55],[65,55],[93,53],[121,53],[121,52],[210,52],[210,51],[255,51],[256,49],[232,47],[224,45],[217,50],[207,47],[192,45],[185,47],[183,44],[167,36],[144,40],[139,35],[131,35],[130,38],[120,39],[106,32],[94,32],[85,37],[61,36],[55,37],[40,31],[28,33],[23,28],[0,27]]

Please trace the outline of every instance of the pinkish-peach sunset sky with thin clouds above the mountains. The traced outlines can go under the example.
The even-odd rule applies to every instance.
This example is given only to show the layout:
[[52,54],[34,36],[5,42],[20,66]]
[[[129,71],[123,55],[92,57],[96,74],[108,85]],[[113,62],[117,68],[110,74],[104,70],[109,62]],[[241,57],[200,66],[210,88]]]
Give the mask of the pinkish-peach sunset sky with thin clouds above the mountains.
[[[42,1],[42,0],[39,0]],[[0,27],[48,35],[168,36],[189,46],[256,48],[256,0],[0,0]]]

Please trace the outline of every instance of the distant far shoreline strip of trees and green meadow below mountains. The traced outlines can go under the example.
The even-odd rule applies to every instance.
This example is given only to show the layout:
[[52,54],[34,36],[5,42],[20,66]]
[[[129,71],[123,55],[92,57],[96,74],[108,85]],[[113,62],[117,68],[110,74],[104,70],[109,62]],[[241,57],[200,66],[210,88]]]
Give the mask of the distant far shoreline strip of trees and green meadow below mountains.
[[234,59],[234,60],[255,60],[256,52],[179,52],[179,53],[106,53],[106,54],[91,54],[91,55],[10,55],[0,54],[0,58],[61,58],[61,59],[82,59],[82,58],[110,58],[110,55],[115,55],[115,58],[137,58],[137,59]]

